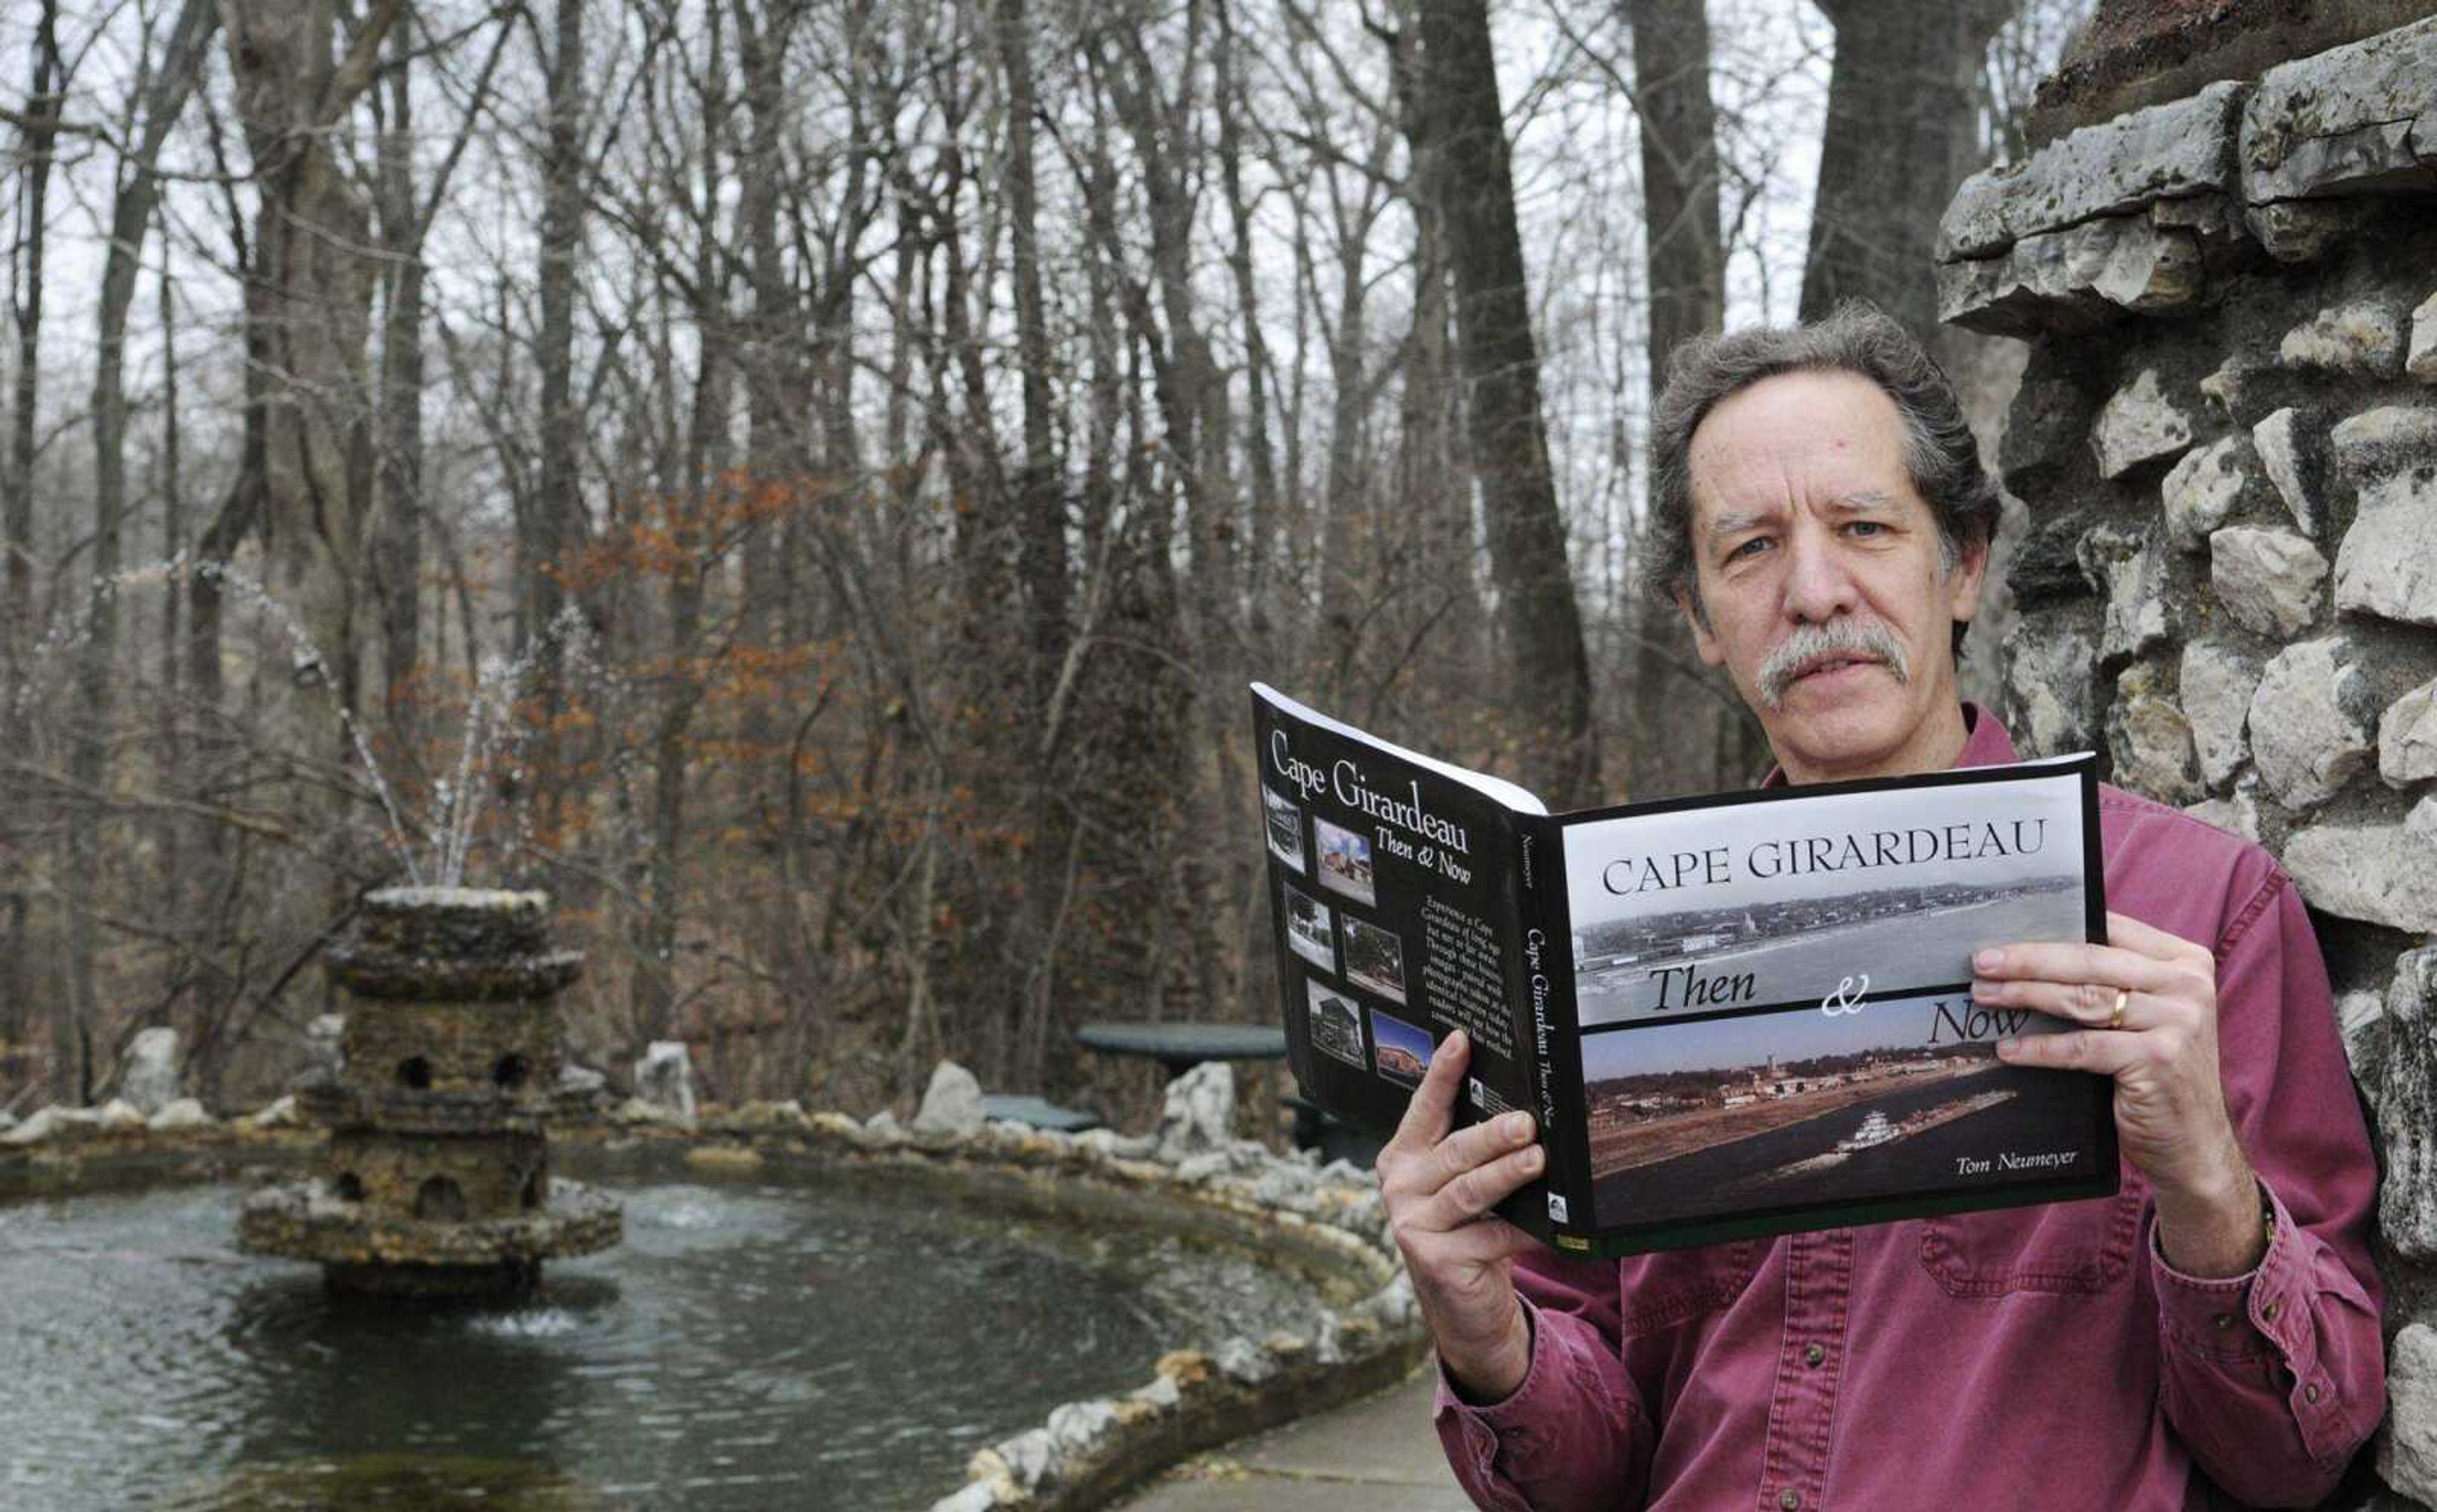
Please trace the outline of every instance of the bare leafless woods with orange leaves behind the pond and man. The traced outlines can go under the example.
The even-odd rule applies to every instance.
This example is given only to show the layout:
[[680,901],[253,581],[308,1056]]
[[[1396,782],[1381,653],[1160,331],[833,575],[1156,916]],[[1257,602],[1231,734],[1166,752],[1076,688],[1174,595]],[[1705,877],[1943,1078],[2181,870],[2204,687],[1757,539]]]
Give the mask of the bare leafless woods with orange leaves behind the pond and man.
[[1084,1018],[1275,1013],[1250,677],[1750,782],[1630,589],[1662,353],[1928,329],[2076,12],[19,7],[0,1105],[146,1023],[263,1096],[461,855],[600,1064],[1072,1091]]

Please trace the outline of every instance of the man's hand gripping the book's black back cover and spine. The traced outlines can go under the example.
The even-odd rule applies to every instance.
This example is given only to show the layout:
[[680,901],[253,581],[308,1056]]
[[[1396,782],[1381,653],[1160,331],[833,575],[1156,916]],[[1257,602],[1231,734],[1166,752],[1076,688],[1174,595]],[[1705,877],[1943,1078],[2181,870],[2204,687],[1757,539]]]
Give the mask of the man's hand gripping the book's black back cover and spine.
[[1379,1149],[1379,1198],[1448,1376],[1477,1400],[1499,1402],[1530,1368],[1513,1256],[1533,1237],[1489,1210],[1538,1176],[1545,1154],[1530,1142],[1528,1113],[1448,1132],[1470,1059],[1462,1030],[1431,1057],[1396,1137]]

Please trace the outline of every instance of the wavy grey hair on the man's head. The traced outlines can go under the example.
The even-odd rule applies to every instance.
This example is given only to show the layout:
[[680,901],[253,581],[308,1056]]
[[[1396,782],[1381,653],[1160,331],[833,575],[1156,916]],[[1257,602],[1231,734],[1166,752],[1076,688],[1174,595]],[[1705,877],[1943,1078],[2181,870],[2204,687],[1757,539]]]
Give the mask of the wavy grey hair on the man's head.
[[1779,373],[1855,373],[1896,402],[1903,470],[1937,519],[1937,550],[1952,572],[1964,550],[1996,533],[1996,480],[1981,467],[1962,399],[1937,358],[1867,299],[1845,299],[1808,326],[1757,326],[1696,336],[1667,360],[1667,392],[1650,419],[1650,531],[1643,589],[1677,594],[1708,623],[1691,565],[1691,433],[1708,411]]

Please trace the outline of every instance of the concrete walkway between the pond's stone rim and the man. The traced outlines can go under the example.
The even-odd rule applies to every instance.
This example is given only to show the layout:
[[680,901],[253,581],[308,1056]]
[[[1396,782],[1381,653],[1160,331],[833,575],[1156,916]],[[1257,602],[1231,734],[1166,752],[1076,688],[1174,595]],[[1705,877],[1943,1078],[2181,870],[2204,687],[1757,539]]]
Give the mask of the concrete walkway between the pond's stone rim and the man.
[[1121,1512],[1472,1512],[1431,1432],[1438,1376],[1175,1466]]

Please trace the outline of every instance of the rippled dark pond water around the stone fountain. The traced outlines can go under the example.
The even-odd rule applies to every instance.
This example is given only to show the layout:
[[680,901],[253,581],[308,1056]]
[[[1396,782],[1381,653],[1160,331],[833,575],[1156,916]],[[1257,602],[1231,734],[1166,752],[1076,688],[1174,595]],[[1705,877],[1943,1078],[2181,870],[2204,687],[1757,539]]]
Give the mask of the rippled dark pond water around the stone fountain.
[[[924,1507],[985,1441],[1279,1327],[1279,1283],[872,1181],[612,1183],[522,1305],[236,1254],[239,1188],[0,1205],[0,1507]],[[1289,1320],[1292,1322],[1292,1320]]]

